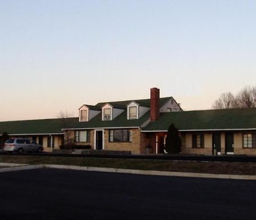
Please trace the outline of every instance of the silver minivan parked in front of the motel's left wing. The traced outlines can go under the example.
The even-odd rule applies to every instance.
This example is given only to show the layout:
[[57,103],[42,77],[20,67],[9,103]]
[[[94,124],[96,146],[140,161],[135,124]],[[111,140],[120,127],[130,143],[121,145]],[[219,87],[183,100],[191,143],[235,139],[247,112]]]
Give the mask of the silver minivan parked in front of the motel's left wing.
[[30,139],[27,138],[10,138],[5,142],[5,146],[3,147],[3,151],[13,152],[16,151],[18,153],[23,152],[42,152],[42,145],[38,145],[34,141],[31,142]]

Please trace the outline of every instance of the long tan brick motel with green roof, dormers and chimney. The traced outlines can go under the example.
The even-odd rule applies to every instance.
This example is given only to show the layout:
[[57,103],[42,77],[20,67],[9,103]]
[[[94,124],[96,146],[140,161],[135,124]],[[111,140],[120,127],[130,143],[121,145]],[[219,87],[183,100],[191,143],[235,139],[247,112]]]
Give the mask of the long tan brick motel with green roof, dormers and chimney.
[[60,145],[90,145],[93,150],[163,154],[168,127],[181,137],[180,154],[256,154],[256,108],[183,111],[172,97],[83,104],[79,117],[0,122],[10,137],[33,139],[44,151]]

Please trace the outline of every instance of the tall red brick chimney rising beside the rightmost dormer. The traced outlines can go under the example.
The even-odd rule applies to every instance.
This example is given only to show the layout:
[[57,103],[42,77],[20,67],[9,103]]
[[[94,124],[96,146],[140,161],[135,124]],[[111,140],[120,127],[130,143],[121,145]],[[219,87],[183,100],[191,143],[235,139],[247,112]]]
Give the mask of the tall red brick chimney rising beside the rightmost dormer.
[[159,88],[150,89],[150,119],[156,121],[159,119]]

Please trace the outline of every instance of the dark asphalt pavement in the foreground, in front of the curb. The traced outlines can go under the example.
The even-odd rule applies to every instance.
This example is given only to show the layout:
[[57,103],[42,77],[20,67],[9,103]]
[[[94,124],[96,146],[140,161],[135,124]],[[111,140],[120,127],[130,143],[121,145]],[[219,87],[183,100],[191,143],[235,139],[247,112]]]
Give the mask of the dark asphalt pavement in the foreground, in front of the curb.
[[256,219],[256,183],[57,170],[0,173],[0,219]]

